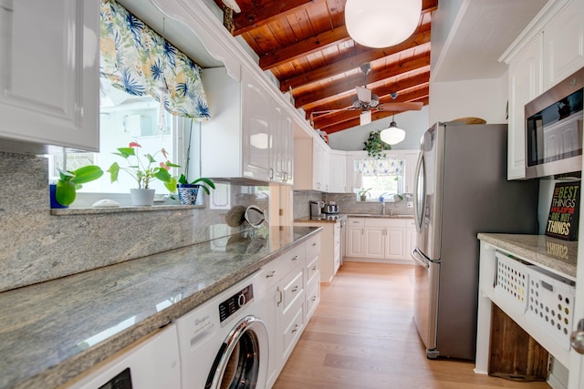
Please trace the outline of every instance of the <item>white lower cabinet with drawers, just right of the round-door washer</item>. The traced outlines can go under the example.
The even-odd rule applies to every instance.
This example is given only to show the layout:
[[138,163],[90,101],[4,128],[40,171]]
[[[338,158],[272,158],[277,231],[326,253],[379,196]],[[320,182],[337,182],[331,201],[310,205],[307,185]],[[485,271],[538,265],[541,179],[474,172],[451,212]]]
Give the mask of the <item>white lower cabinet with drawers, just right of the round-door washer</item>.
[[320,234],[263,267],[269,336],[267,387],[272,387],[320,302]]

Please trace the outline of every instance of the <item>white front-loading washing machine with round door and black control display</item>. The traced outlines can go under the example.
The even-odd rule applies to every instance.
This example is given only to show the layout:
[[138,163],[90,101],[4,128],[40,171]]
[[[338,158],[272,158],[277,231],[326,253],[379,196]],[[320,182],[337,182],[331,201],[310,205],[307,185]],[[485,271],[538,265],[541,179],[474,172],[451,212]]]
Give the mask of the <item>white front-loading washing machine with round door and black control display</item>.
[[183,389],[264,389],[268,335],[262,271],[176,321]]

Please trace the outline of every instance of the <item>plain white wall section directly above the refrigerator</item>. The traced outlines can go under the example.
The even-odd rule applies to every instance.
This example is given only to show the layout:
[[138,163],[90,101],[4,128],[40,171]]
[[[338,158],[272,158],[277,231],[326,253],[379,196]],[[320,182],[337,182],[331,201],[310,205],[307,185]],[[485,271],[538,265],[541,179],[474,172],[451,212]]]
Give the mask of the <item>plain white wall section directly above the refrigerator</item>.
[[507,74],[495,79],[430,83],[430,123],[484,118],[506,123]]

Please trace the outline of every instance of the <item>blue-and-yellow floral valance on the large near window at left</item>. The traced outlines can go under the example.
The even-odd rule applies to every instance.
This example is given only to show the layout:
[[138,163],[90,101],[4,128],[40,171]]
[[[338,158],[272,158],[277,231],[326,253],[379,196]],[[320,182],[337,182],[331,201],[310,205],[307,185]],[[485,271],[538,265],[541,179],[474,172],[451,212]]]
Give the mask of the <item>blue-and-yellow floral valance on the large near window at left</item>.
[[150,95],[172,115],[207,120],[201,67],[113,0],[101,1],[101,77],[130,95]]

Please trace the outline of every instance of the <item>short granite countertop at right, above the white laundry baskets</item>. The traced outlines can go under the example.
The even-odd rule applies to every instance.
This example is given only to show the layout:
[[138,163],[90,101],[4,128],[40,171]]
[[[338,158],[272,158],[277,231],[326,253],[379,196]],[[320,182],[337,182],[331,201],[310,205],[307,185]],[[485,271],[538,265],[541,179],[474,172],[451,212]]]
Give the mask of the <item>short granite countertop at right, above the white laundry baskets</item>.
[[578,241],[562,241],[546,235],[500,233],[479,233],[477,237],[522,260],[576,281]]

